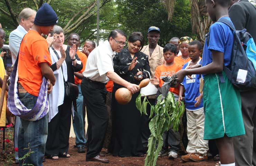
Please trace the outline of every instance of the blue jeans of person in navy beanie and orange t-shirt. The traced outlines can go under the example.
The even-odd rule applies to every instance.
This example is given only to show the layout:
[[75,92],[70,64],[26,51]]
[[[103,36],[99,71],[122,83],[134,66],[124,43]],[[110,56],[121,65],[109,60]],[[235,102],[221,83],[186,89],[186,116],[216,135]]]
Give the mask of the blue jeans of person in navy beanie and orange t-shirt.
[[[28,108],[32,109],[36,104],[37,96],[29,93],[19,93],[20,101]],[[34,166],[43,166],[42,161],[45,154],[45,144],[48,133],[48,116],[38,121],[28,121],[20,118],[20,127],[18,135],[18,155],[19,158],[23,157],[29,150],[34,153],[30,154],[25,159],[24,164],[33,164]],[[21,166],[23,160],[19,161]]]

